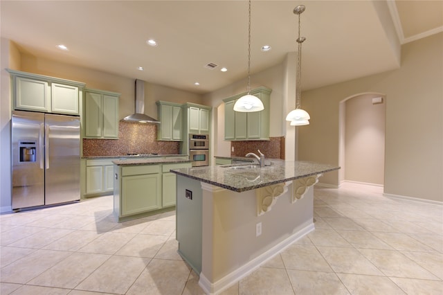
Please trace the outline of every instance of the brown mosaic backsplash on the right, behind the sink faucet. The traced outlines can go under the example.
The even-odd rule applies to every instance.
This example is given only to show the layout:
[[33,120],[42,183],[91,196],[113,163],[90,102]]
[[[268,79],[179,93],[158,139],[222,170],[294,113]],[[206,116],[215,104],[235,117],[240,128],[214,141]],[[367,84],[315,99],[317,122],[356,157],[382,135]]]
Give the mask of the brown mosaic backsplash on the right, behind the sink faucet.
[[260,150],[266,158],[284,159],[284,136],[271,137],[269,141],[231,141],[230,146],[234,147],[231,157],[244,157],[248,152],[257,154]]

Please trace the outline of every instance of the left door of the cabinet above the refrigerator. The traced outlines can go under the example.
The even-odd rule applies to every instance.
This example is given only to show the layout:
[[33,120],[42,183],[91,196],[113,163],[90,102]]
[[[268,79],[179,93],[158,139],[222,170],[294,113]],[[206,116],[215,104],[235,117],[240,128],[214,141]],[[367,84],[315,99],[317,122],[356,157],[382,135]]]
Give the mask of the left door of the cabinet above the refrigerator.
[[48,82],[15,78],[15,109],[51,111],[51,91]]

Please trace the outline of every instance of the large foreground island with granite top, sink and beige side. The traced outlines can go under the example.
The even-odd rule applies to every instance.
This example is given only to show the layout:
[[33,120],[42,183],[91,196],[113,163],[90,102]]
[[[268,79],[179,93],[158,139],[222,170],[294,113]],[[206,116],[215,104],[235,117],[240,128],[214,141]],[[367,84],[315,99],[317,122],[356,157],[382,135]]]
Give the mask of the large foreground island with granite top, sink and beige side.
[[339,167],[266,159],[172,170],[179,253],[216,294],[314,230],[312,186]]

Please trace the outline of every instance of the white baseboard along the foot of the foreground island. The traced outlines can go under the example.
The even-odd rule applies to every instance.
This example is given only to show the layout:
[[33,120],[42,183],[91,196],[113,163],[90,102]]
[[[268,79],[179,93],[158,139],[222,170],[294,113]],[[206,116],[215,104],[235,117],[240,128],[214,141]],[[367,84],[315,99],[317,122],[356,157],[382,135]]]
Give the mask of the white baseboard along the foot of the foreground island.
[[283,240],[279,244],[276,244],[268,251],[262,253],[257,258],[254,258],[253,260],[247,262],[245,265],[242,265],[242,267],[239,267],[227,276],[224,276],[224,278],[217,280],[217,282],[215,283],[211,283],[210,280],[208,280],[208,278],[206,278],[203,273],[200,273],[199,285],[206,294],[219,294],[220,292],[223,292],[224,290],[237,283],[242,278],[251,274],[253,271],[255,271],[255,269],[259,268],[260,265],[289,247],[289,245],[291,245],[293,242],[296,242],[296,240],[304,237],[311,231],[314,231],[314,229],[315,227],[313,222],[306,222],[302,225],[302,229],[300,229],[300,231],[289,236],[289,238]]

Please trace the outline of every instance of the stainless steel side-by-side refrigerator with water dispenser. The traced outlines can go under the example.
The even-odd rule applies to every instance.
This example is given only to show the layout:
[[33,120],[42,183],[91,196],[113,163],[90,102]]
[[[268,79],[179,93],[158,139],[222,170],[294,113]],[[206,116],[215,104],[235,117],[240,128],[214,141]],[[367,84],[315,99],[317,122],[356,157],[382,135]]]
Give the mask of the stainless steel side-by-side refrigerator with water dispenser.
[[80,199],[80,118],[12,112],[12,210]]

